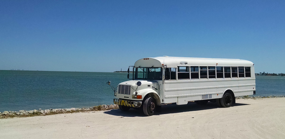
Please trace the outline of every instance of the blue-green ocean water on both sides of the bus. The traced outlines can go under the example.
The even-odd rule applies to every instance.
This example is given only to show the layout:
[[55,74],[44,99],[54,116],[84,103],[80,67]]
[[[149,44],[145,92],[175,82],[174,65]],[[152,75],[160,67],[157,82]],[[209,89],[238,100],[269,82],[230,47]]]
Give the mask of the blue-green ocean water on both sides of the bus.
[[[0,70],[0,112],[113,104],[127,73]],[[285,95],[285,77],[256,76],[256,95]]]

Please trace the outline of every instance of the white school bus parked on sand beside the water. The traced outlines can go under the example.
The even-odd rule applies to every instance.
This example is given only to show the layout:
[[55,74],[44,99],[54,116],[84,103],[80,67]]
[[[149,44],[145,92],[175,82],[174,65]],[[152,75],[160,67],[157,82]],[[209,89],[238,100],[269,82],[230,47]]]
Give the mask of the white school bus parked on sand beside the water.
[[235,97],[255,94],[254,64],[247,60],[163,56],[139,59],[130,67],[132,80],[114,91],[114,104],[122,111],[142,108],[151,116],[162,104],[189,101],[230,107]]

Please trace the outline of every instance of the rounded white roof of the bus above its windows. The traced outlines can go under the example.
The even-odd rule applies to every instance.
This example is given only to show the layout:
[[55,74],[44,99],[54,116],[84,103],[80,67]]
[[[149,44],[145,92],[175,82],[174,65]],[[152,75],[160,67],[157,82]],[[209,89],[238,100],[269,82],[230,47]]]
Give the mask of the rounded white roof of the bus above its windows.
[[148,57],[139,59],[134,67],[177,67],[177,66],[253,66],[251,61],[242,59],[212,59],[192,57]]

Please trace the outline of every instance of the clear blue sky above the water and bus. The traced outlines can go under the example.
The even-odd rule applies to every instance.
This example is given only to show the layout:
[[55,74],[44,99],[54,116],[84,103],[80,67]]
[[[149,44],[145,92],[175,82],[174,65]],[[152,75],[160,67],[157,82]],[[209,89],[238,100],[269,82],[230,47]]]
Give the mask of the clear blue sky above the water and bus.
[[285,1],[0,1],[0,70],[113,72],[145,57],[285,72]]

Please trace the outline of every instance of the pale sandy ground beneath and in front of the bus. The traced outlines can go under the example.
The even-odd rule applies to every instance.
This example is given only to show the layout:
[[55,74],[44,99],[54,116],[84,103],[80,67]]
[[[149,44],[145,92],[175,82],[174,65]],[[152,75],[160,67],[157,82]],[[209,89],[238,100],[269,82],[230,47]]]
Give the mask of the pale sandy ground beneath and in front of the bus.
[[131,109],[0,119],[1,138],[285,138],[285,98],[237,99],[230,108],[214,103],[164,105],[144,116]]

